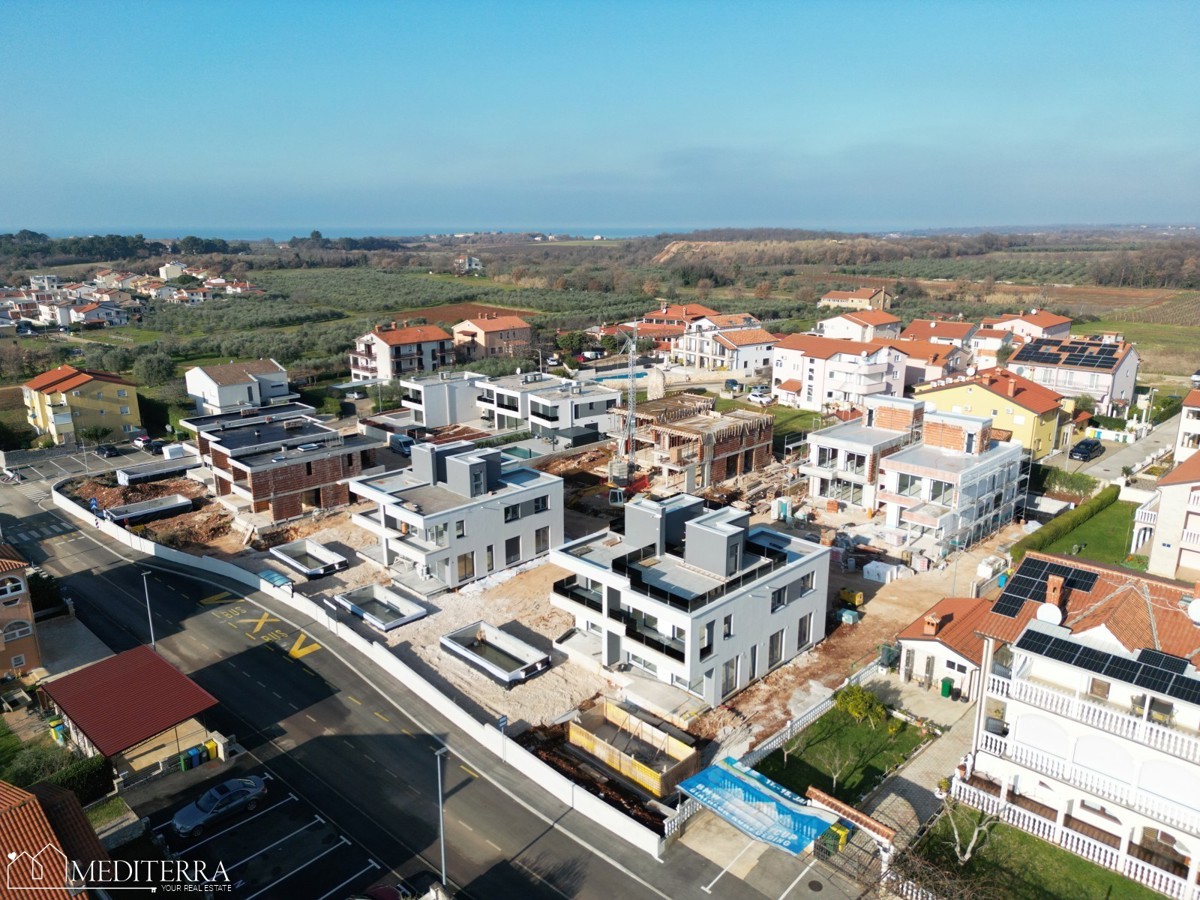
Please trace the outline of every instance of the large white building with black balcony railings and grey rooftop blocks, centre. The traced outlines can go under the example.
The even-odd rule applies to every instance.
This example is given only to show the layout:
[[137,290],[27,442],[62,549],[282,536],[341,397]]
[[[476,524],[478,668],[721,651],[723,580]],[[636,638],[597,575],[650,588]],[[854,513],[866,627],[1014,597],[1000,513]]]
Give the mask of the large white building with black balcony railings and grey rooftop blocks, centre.
[[638,497],[620,526],[551,552],[551,602],[604,666],[634,666],[716,706],[820,643],[829,550],[698,497]]

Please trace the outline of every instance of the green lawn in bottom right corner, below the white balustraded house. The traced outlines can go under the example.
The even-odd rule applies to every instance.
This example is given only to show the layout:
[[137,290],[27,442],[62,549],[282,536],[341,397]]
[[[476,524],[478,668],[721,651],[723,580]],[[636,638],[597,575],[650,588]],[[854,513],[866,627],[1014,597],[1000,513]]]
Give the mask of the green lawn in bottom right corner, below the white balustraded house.
[[[960,823],[960,833],[961,826],[966,824],[966,833],[970,834],[970,823],[979,812],[958,805],[954,815]],[[918,851],[940,868],[956,870],[971,881],[986,884],[990,888],[988,896],[1003,896],[1006,900],[1152,900],[1160,896],[1114,871],[1006,824],[997,824],[988,845],[961,869],[953,845],[947,841],[953,841],[953,832],[949,820],[942,816]]]

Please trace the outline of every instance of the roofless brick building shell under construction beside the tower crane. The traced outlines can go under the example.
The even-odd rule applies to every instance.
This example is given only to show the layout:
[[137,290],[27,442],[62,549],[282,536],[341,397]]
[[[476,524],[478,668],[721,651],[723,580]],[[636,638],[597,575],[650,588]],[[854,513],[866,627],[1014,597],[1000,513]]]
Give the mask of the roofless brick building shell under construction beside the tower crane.
[[[773,416],[749,409],[716,413],[713,403],[674,394],[636,406],[634,458],[653,490],[695,493],[773,462]],[[613,412],[624,418],[628,408]],[[625,433],[613,437],[623,450]]]

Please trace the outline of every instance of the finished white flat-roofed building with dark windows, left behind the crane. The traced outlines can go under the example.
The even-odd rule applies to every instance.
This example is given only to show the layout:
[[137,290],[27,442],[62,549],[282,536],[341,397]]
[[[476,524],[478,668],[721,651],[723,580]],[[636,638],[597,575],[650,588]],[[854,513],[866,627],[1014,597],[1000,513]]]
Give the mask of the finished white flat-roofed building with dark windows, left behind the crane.
[[482,378],[476,383],[479,418],[497,431],[528,428],[536,434],[571,427],[612,427],[620,391],[592,382],[572,382],[541,372]]

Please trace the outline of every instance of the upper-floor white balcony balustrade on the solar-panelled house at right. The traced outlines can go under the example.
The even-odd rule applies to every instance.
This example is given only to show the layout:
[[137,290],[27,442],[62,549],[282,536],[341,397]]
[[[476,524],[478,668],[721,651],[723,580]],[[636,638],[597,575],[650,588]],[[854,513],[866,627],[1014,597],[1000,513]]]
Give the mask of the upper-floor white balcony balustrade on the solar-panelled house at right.
[[[988,677],[988,692],[1008,697],[1048,713],[1072,719],[1135,744],[1160,750],[1190,763],[1200,764],[1200,736],[1178,727],[1147,721],[1132,712],[1126,713],[1108,703],[1076,697],[1061,688],[1051,688],[1021,678]],[[1151,704],[1153,712],[1153,704]]]

